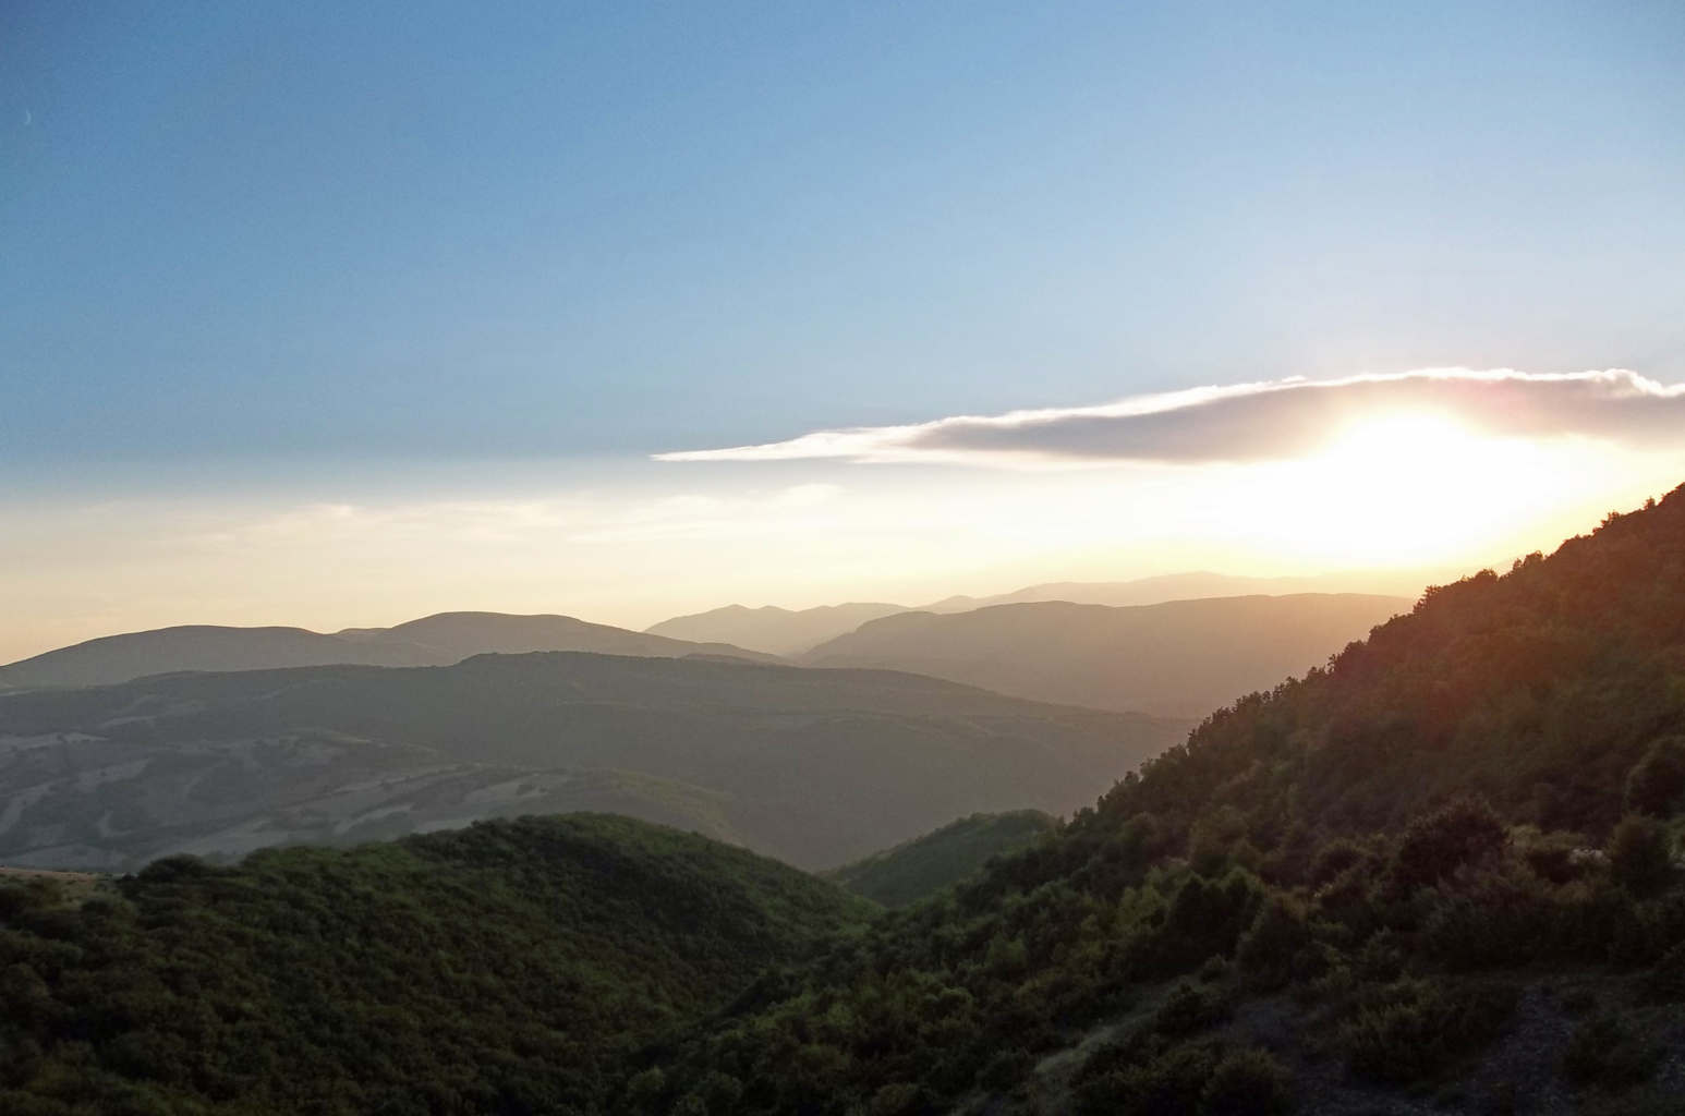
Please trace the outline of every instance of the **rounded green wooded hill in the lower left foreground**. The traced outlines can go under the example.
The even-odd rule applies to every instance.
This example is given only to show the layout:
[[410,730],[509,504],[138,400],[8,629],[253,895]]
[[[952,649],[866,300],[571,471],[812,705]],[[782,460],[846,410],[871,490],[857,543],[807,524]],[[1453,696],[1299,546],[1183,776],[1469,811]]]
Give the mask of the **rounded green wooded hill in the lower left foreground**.
[[637,1044],[871,910],[603,816],[165,860],[118,892],[0,880],[0,1109],[595,1109]]

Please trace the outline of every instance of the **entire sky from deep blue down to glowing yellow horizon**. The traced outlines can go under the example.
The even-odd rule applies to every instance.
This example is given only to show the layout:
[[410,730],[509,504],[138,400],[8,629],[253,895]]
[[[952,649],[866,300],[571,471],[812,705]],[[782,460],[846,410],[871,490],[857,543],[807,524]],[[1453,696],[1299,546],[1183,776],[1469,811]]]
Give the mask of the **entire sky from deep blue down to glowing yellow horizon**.
[[1550,550],[1680,182],[1666,2],[8,5],[0,661]]

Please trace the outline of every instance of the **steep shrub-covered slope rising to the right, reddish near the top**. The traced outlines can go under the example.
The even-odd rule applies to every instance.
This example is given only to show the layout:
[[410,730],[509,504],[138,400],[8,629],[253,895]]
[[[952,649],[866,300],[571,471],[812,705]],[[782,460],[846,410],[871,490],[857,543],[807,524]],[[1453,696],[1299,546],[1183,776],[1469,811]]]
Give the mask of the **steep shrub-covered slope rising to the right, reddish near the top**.
[[1682,733],[1685,489],[1220,710],[623,1104],[1682,1111]]

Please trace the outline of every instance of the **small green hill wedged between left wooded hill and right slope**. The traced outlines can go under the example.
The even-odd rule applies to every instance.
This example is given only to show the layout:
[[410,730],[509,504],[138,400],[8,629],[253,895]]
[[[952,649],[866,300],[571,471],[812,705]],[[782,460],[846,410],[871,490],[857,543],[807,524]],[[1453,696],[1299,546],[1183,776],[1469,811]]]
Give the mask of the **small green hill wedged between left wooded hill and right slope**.
[[991,856],[1016,853],[1056,826],[1055,818],[1038,809],[972,814],[935,833],[832,868],[824,878],[885,907],[905,907],[976,875]]

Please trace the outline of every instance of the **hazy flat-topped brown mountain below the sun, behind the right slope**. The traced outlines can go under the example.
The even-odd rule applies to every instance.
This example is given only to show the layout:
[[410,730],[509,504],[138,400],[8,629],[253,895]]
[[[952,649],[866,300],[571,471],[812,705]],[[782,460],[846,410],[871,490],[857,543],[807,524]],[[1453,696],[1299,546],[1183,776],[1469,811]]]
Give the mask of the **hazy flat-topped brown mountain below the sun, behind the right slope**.
[[810,666],[869,666],[999,693],[1196,716],[1237,693],[1318,666],[1410,607],[1400,597],[1299,593],[1159,605],[1068,602],[901,612],[802,656]]

